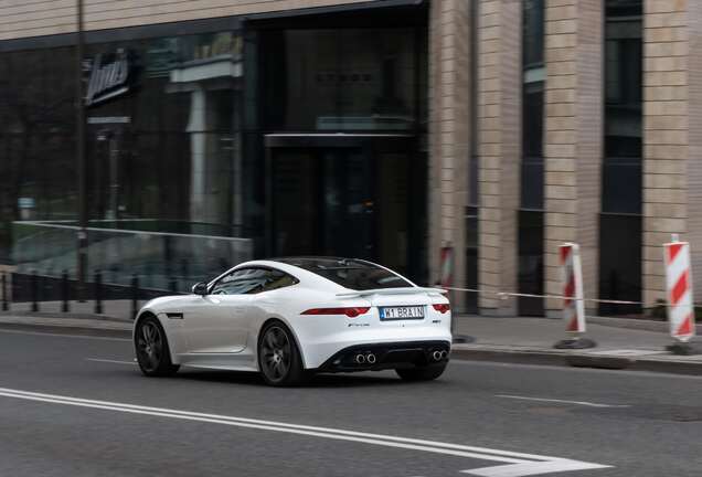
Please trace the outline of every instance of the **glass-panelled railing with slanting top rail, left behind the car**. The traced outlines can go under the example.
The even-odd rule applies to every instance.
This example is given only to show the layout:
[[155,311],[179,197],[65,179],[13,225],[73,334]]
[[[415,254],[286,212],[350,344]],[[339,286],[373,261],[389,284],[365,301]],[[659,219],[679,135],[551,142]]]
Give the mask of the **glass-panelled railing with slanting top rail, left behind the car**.
[[[60,277],[65,271],[76,276],[78,231],[67,223],[13,222],[17,273]],[[96,226],[87,231],[88,266],[115,285],[128,286],[138,275],[146,287],[168,289],[173,280],[194,283],[253,257],[251,239]]]

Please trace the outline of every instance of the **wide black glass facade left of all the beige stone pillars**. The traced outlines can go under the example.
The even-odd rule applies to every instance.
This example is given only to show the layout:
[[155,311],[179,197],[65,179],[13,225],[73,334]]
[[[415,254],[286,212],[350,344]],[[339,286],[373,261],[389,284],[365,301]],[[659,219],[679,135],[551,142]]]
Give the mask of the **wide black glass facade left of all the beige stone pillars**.
[[[328,254],[425,280],[426,8],[393,11],[91,33],[91,269]],[[0,50],[0,259],[73,275],[75,49]]]

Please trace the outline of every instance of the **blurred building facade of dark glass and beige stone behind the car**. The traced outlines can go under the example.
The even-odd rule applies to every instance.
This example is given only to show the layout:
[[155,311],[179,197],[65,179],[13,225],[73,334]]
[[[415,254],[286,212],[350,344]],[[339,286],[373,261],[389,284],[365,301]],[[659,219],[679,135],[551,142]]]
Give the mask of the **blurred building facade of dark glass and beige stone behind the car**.
[[[349,255],[460,309],[555,315],[702,274],[692,0],[85,0],[88,264],[163,286]],[[75,2],[0,1],[0,258],[75,271]],[[702,292],[702,280],[700,280]],[[589,303],[588,303],[589,306]]]

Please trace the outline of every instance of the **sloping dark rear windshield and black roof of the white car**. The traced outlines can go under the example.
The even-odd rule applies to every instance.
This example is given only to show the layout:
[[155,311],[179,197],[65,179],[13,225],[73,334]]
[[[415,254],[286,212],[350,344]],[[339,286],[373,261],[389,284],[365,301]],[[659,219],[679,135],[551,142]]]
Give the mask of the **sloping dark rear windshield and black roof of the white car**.
[[279,262],[305,268],[353,290],[413,286],[400,275],[359,259],[284,258]]

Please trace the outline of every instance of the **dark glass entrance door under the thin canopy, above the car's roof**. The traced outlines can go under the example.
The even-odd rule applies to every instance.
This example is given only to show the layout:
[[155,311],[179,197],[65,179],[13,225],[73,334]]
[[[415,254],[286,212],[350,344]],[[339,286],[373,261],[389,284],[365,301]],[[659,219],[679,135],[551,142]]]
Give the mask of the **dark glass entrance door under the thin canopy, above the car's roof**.
[[360,149],[276,149],[274,255],[375,257],[371,159]]

